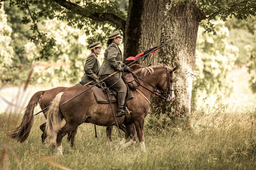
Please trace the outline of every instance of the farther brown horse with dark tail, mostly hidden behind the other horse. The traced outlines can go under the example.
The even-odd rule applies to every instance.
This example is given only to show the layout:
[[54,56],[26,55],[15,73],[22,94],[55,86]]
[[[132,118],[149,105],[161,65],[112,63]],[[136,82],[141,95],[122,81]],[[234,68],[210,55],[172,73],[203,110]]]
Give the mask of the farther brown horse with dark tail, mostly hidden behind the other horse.
[[[31,130],[32,125],[33,125],[33,118],[34,118],[33,112],[34,112],[35,106],[39,103],[41,109],[44,109],[44,108],[48,107],[50,105],[50,103],[53,101],[53,99],[56,97],[56,95],[59,94],[60,92],[62,92],[65,88],[67,88],[67,87],[57,87],[57,88],[52,88],[52,89],[47,90],[47,91],[38,91],[38,92],[36,92],[31,97],[28,105],[26,106],[26,110],[25,110],[24,117],[23,117],[23,120],[21,122],[21,125],[19,127],[17,127],[15,129],[15,131],[10,133],[12,138],[17,139],[19,142],[24,142],[27,139],[27,137],[29,136],[30,130]],[[48,111],[48,109],[43,111],[45,119],[47,118],[47,111]],[[42,135],[41,135],[43,144],[44,144],[44,141],[47,137],[47,133],[45,131],[45,126],[46,126],[46,122],[43,123],[42,125],[40,125],[40,129],[43,132]],[[110,141],[112,141],[112,129],[113,129],[112,126],[109,126],[106,129],[107,138]],[[125,137],[124,137],[123,140],[127,140],[128,137],[129,137],[129,134],[127,133],[127,130],[126,130],[125,126],[121,125],[120,129],[125,132]],[[70,142],[71,147],[74,147],[76,134],[77,134],[77,129],[72,130],[68,134],[67,139],[68,139],[68,142]]]

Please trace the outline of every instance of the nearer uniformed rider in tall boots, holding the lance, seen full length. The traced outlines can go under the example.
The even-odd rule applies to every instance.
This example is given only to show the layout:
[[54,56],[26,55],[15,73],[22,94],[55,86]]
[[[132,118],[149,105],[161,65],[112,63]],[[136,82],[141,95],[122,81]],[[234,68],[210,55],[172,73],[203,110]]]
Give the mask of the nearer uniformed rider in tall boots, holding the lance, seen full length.
[[121,78],[123,71],[130,72],[131,69],[129,67],[124,68],[126,66],[122,63],[123,60],[123,52],[120,50],[118,45],[121,42],[120,32],[114,32],[108,37],[108,48],[104,53],[103,64],[100,67],[99,75],[100,79],[104,79],[109,76],[109,74],[114,73],[115,71],[120,71],[117,74],[109,77],[105,80],[112,88],[114,88],[118,92],[118,113],[117,116],[123,116],[126,114],[124,105],[126,101],[126,93],[127,87],[124,83],[124,80]]

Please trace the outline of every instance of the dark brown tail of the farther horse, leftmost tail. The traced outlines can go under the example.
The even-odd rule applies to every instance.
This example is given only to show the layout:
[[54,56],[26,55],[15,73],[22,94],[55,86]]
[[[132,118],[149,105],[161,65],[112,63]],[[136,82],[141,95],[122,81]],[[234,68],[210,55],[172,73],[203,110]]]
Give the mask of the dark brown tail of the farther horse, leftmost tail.
[[44,91],[38,91],[31,97],[29,104],[26,106],[21,125],[8,134],[13,139],[18,140],[19,142],[24,142],[27,139],[34,121],[34,108],[43,94]]

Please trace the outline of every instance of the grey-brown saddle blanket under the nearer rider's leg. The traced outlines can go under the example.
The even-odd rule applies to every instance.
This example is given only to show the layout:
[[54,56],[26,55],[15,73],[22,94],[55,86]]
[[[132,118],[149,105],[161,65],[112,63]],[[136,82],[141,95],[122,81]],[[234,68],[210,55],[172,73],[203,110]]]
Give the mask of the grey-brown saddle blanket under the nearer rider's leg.
[[[106,96],[103,93],[103,90],[101,88],[98,88],[97,86],[94,86],[91,89],[92,89],[93,94],[94,94],[98,103],[106,103],[106,104],[109,103],[109,101],[106,99]],[[115,95],[113,93],[115,93]],[[116,98],[115,98],[115,96],[117,96],[116,91],[110,92],[109,95],[110,95],[112,103],[117,101]],[[130,100],[132,98],[133,98],[132,91],[129,91],[128,94],[127,94],[126,100]]]

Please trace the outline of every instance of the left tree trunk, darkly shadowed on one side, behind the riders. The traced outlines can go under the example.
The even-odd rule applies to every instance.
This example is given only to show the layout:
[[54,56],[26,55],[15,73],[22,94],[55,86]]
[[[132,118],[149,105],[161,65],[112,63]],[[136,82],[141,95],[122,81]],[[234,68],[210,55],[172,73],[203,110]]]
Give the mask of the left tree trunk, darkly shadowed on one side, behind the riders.
[[[163,0],[129,0],[129,11],[124,33],[124,57],[135,56],[159,45]],[[153,54],[142,65],[155,64],[158,54]]]

